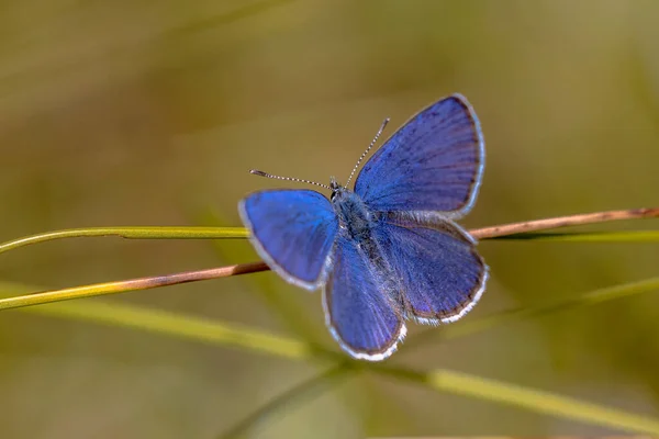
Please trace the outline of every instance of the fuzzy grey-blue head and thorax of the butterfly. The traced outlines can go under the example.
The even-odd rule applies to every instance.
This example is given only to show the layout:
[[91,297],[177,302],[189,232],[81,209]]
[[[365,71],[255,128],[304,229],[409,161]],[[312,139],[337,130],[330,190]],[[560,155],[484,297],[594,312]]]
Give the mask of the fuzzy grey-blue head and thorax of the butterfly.
[[332,191],[332,204],[338,216],[338,225],[348,238],[357,241],[370,239],[375,213],[367,207],[359,195],[336,185]]

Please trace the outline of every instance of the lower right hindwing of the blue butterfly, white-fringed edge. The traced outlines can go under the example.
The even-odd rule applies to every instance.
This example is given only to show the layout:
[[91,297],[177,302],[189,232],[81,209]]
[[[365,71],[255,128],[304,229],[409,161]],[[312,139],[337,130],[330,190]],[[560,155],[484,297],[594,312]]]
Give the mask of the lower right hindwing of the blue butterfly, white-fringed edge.
[[400,280],[405,317],[450,323],[476,305],[485,289],[488,267],[458,225],[393,217],[380,222],[376,233],[384,260]]

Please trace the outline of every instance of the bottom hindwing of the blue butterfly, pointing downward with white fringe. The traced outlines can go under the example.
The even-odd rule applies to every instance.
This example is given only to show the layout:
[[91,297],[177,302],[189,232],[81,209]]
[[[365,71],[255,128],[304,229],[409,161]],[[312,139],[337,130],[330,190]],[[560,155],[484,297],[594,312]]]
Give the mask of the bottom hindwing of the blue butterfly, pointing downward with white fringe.
[[324,290],[325,318],[340,347],[357,359],[379,361],[405,336],[387,280],[353,240],[338,237]]

